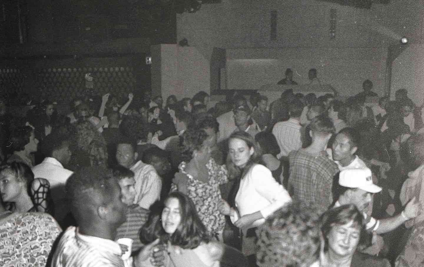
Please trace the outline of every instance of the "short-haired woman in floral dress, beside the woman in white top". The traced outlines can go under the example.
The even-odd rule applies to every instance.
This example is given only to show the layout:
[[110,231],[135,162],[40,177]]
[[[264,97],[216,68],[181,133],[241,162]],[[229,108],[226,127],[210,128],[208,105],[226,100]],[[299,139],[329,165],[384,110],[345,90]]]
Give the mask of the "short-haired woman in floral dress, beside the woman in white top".
[[179,164],[172,191],[187,194],[195,203],[195,209],[207,233],[222,240],[225,216],[219,210],[220,185],[225,184],[227,170],[211,157],[208,134],[202,129],[189,128],[183,134],[184,154],[189,158]]

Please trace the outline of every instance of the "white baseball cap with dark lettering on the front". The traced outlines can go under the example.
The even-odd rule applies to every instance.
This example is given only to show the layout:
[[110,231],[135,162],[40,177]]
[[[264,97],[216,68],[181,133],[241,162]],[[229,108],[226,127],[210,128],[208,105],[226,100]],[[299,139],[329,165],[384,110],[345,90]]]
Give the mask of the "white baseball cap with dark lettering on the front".
[[342,170],[339,175],[339,184],[344,187],[359,188],[370,193],[378,193],[382,190],[380,186],[373,184],[372,173],[368,168]]

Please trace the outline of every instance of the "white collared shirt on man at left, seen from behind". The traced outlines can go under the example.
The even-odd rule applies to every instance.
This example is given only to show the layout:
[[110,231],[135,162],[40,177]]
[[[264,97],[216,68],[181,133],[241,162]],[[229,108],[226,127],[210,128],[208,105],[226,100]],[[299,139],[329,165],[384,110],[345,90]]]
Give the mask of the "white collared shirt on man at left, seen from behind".
[[45,158],[42,163],[34,166],[32,172],[34,178],[45,178],[49,181],[55,219],[60,222],[69,211],[65,195],[65,183],[73,172],[65,169],[57,159],[51,157]]

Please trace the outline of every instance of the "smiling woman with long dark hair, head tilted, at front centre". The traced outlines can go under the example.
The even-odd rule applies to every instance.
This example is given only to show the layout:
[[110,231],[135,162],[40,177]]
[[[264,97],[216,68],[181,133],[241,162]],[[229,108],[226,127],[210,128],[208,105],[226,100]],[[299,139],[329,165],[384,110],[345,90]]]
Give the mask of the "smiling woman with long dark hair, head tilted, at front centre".
[[[231,258],[236,266],[245,266],[245,259],[237,250],[210,241],[194,203],[187,195],[173,192],[164,204],[162,212],[153,212],[140,230],[143,243],[159,241],[166,246],[164,267],[218,267],[224,256]],[[149,258],[139,256],[134,260],[142,262],[142,266],[153,266]]]

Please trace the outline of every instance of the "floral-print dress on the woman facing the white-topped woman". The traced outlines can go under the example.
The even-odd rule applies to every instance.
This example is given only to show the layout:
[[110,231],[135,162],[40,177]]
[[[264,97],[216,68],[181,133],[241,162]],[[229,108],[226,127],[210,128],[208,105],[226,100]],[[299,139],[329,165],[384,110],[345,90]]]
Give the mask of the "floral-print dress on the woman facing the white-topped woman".
[[[214,159],[210,159],[206,164],[209,172],[209,181],[207,183],[199,181],[187,173],[185,171],[186,166],[186,162],[181,162],[179,170],[188,177],[187,195],[193,200],[200,220],[209,234],[221,233],[225,226],[225,216],[218,209],[221,200],[219,186],[228,182],[225,165],[218,165]],[[178,190],[176,184],[172,184],[171,192],[176,190]]]

